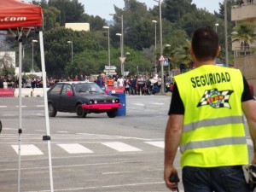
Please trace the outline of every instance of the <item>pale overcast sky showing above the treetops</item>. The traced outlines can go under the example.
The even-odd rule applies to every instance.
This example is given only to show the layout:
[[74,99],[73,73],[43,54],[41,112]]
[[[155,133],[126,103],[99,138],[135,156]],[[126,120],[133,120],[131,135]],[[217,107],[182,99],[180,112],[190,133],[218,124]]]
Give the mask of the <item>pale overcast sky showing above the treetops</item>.
[[[158,3],[154,0],[137,0],[141,3],[146,3],[148,8],[152,8]],[[193,0],[197,8],[206,8],[209,12],[213,13],[214,10],[218,12],[218,3],[223,3],[224,0]],[[79,3],[84,4],[85,13],[88,15],[99,15],[106,20],[112,20],[113,16],[109,14],[114,13],[113,5],[115,4],[120,9],[124,8],[125,3],[123,0],[79,0]]]

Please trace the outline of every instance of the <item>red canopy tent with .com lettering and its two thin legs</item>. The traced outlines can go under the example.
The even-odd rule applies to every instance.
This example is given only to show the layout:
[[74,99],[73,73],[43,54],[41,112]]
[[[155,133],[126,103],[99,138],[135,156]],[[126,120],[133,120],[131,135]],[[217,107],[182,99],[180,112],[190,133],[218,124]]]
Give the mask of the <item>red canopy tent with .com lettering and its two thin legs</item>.
[[49,136],[49,114],[46,90],[46,72],[44,63],[44,40],[43,40],[43,10],[38,5],[31,3],[23,3],[20,0],[0,0],[0,30],[11,32],[19,41],[19,173],[18,173],[18,191],[20,192],[20,141],[22,133],[22,97],[21,97],[21,70],[22,70],[22,36],[25,34],[28,37],[29,33],[38,29],[39,43],[41,53],[41,65],[43,73],[44,87],[44,112],[46,121],[46,133],[43,140],[48,142],[49,151],[49,177],[50,189],[53,191],[52,164],[50,151],[50,136]]

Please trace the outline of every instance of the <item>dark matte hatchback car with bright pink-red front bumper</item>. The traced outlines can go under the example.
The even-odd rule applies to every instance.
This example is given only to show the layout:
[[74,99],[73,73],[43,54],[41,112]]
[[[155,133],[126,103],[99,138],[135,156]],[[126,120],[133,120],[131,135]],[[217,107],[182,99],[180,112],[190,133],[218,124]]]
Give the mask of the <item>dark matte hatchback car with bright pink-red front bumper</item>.
[[118,97],[107,95],[93,82],[59,82],[47,91],[47,96],[49,117],[68,112],[77,113],[79,118],[88,113],[107,113],[114,118],[122,107]]

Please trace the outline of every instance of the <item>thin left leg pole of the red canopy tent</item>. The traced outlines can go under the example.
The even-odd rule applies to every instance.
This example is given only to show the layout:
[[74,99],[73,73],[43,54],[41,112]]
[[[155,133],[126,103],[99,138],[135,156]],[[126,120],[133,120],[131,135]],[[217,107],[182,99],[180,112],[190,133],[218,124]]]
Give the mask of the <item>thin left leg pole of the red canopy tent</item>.
[[21,84],[22,84],[22,40],[19,40],[19,168],[18,168],[18,192],[20,192],[20,143],[21,143],[21,133],[22,133],[22,97],[21,97]]

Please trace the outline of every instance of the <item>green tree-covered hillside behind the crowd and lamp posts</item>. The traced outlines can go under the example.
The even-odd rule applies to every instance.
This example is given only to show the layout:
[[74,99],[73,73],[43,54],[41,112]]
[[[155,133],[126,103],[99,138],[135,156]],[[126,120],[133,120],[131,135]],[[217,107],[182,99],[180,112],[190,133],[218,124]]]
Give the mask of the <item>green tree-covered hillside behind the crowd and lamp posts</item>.
[[[120,73],[120,15],[123,15],[124,29],[124,54],[129,53],[125,60],[125,71],[131,74],[153,73],[155,58],[160,56],[160,30],[159,6],[156,4],[148,9],[145,3],[137,0],[124,0],[125,7],[114,6],[113,25],[110,26],[111,65],[117,67]],[[102,73],[108,66],[108,31],[102,26],[107,26],[107,21],[99,16],[87,15],[86,7],[79,0],[46,0],[32,1],[44,9],[44,51],[46,72],[55,78],[67,77],[73,74]],[[235,0],[228,1],[228,33],[233,31],[234,23],[230,21],[231,6]],[[111,5],[110,5],[111,6]],[[157,20],[157,46],[154,49],[154,23]],[[90,23],[90,32],[75,32],[65,28],[65,23]],[[219,11],[214,14],[206,9],[198,9],[192,0],[163,0],[162,2],[162,37],[164,55],[172,63],[171,68],[191,63],[189,53],[190,39],[199,26],[212,26],[218,23],[220,45],[223,48],[220,58],[224,59],[224,4],[219,3]],[[230,37],[229,37],[230,38]],[[22,71],[31,70],[32,39],[38,39],[37,33],[32,33],[24,39],[25,58]],[[13,41],[5,39],[5,44]],[[73,62],[71,44],[73,42]],[[231,47],[231,38],[229,40]],[[170,44],[168,48],[165,44]],[[11,43],[11,50],[17,50],[18,44]],[[40,69],[39,44],[33,45],[34,69]],[[229,49],[230,50],[230,49]],[[155,55],[157,55],[155,57]],[[230,50],[231,55],[231,50]],[[232,63],[232,56],[230,56]],[[158,71],[160,65],[158,64]],[[167,70],[165,68],[165,70]]]

